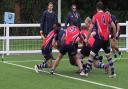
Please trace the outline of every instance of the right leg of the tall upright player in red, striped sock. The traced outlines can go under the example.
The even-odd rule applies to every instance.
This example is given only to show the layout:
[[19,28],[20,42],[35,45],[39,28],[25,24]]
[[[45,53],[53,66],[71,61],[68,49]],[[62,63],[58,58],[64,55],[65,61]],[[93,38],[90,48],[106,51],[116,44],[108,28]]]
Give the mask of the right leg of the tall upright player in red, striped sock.
[[110,70],[111,70],[110,77],[115,77],[116,74],[115,74],[114,63],[112,60],[112,55],[110,52],[110,41],[109,40],[104,42],[103,50],[106,53],[108,64],[110,66]]

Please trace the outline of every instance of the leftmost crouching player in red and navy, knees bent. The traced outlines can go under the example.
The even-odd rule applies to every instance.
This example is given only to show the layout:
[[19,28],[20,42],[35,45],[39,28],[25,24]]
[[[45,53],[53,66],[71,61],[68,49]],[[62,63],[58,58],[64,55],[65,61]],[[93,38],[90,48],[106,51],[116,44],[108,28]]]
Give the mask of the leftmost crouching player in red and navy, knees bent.
[[51,68],[52,60],[54,60],[52,56],[52,47],[56,43],[57,33],[61,28],[61,24],[56,23],[53,25],[53,30],[47,35],[47,37],[42,42],[42,54],[45,58],[45,61],[41,64],[35,65],[35,71],[38,73],[43,68]]

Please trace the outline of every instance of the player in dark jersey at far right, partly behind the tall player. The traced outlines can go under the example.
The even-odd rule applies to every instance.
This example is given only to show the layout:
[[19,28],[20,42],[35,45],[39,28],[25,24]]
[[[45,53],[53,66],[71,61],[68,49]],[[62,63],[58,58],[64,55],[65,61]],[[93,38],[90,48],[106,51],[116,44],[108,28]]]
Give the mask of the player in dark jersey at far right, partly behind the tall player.
[[112,48],[112,52],[114,55],[114,58],[117,58],[117,54],[116,52],[119,54],[119,56],[121,56],[121,51],[118,48],[118,40],[119,40],[119,36],[120,36],[120,26],[118,23],[118,20],[116,18],[116,16],[111,15],[109,10],[106,10],[106,13],[111,17],[112,21],[115,23],[116,25],[116,40],[113,40],[113,28],[110,25],[110,33],[111,33],[111,48]]

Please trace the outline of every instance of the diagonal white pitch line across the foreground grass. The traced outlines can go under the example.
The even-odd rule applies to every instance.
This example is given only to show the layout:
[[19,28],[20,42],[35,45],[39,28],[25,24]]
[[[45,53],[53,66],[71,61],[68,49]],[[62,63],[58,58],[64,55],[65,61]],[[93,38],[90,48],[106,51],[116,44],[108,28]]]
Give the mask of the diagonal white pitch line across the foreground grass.
[[[14,65],[14,66],[17,66],[17,67],[22,67],[22,68],[29,69],[29,70],[34,70],[34,68],[23,66],[23,65],[19,65],[19,64],[14,64],[14,63],[7,62],[7,61],[4,61],[3,63],[9,64],[9,65]],[[42,72],[49,73],[47,71],[42,71]],[[108,88],[112,88],[112,89],[123,89],[123,88],[116,87],[116,86],[111,86],[111,85],[106,85],[106,84],[93,82],[93,81],[89,81],[89,80],[79,79],[79,78],[75,78],[75,77],[71,77],[71,76],[67,76],[67,75],[62,75],[62,74],[58,74],[58,73],[54,73],[54,75],[65,77],[65,78],[69,78],[69,79],[79,80],[79,81],[83,81],[83,82],[87,82],[87,83],[91,83],[91,84],[99,85],[99,86],[103,86],[103,87],[108,87]]]

